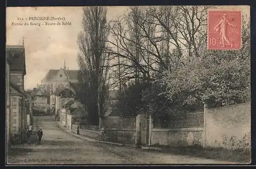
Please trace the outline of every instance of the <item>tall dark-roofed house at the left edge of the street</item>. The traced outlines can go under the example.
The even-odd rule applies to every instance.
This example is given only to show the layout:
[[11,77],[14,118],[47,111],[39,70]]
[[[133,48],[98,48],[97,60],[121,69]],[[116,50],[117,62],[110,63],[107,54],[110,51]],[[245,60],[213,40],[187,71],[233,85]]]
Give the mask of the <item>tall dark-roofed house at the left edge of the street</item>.
[[[27,115],[25,112],[24,76],[26,59],[24,45],[7,45],[6,55],[10,61],[10,115],[9,133],[11,142],[26,139]],[[8,77],[7,77],[8,78]]]

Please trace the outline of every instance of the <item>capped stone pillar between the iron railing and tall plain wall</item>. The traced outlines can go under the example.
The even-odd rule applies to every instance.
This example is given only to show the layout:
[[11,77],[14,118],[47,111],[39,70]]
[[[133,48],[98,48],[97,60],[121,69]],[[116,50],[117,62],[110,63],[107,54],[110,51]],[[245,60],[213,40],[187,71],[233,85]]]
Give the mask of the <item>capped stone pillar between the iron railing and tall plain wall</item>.
[[208,138],[208,111],[210,107],[210,101],[204,101],[204,133],[203,133],[203,148],[207,147]]

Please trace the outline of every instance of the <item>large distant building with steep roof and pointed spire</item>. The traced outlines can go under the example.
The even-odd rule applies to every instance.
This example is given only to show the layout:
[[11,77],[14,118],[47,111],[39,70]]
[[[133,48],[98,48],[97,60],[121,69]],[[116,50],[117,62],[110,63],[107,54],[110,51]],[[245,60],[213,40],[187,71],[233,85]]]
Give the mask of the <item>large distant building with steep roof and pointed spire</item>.
[[78,70],[69,70],[64,62],[64,67],[60,69],[50,69],[41,84],[50,94],[60,87],[69,87],[71,83],[78,83]]

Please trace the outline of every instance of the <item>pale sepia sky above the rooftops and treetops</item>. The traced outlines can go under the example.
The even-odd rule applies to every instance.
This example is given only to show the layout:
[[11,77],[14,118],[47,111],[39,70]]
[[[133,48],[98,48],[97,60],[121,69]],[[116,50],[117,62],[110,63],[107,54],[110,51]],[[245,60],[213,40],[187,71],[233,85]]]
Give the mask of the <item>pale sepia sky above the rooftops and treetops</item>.
[[[227,8],[227,7],[220,7]],[[228,9],[236,9],[229,6]],[[107,7],[107,20],[121,16],[127,7]],[[249,14],[249,6],[242,8],[242,13]],[[65,17],[71,26],[12,26],[12,22],[28,22],[17,20],[17,17],[34,16]],[[82,7],[8,7],[6,11],[6,44],[20,45],[24,37],[26,54],[25,89],[32,89],[45,77],[50,69],[66,67],[78,69],[77,37],[81,31]],[[33,21],[45,23],[44,20]]]

